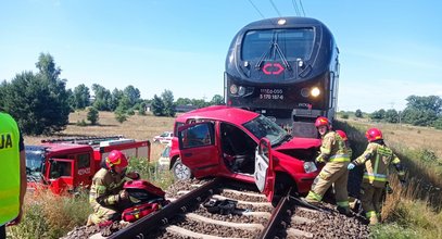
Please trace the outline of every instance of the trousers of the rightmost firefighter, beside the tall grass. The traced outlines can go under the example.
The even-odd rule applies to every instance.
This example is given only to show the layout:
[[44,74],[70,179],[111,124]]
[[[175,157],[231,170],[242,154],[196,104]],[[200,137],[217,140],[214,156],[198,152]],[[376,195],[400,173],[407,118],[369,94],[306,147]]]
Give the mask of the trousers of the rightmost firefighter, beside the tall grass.
[[361,185],[361,203],[365,216],[371,225],[378,223],[382,206],[382,193],[384,187],[374,187],[370,183],[363,180]]

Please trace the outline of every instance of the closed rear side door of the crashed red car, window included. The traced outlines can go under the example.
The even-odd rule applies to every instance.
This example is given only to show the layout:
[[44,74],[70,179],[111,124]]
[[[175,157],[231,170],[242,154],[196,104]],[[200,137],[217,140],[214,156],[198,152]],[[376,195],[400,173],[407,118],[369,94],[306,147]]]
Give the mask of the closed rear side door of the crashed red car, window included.
[[197,178],[214,176],[219,172],[219,153],[215,146],[215,125],[201,122],[178,129],[179,154]]

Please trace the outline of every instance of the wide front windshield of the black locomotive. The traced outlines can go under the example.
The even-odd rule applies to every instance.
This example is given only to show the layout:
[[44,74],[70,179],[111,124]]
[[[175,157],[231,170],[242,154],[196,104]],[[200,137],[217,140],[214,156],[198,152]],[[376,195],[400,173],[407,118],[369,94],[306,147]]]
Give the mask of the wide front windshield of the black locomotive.
[[[281,49],[288,61],[307,60],[312,54],[314,36],[313,28],[249,30],[242,42],[241,60],[260,61],[274,43]],[[268,56],[277,55],[271,53]]]

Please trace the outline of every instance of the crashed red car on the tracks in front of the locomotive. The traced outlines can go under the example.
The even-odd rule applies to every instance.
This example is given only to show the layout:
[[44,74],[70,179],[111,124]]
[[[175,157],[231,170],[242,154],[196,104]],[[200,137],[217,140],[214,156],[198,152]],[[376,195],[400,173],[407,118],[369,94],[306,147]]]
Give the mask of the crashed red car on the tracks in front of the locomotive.
[[175,128],[174,175],[187,167],[187,174],[197,178],[223,176],[256,184],[273,201],[288,186],[308,192],[318,174],[314,159],[320,140],[293,138],[258,113],[210,106],[180,115]]

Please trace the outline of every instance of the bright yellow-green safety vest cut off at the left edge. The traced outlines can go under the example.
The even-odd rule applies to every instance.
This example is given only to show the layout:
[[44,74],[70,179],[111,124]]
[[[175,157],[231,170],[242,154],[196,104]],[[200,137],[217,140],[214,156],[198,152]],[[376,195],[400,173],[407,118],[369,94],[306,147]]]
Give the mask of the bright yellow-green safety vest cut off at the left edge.
[[13,221],[20,211],[20,133],[14,118],[0,113],[0,225]]

